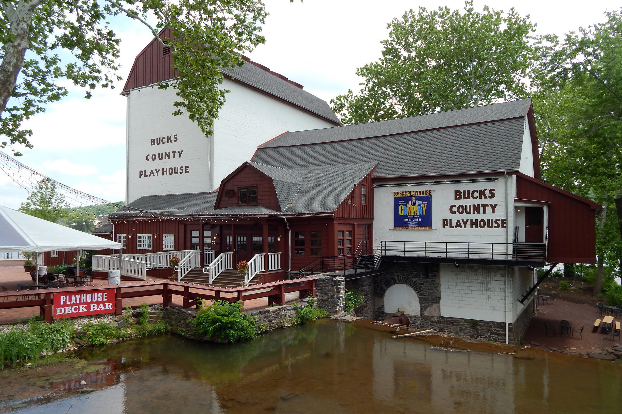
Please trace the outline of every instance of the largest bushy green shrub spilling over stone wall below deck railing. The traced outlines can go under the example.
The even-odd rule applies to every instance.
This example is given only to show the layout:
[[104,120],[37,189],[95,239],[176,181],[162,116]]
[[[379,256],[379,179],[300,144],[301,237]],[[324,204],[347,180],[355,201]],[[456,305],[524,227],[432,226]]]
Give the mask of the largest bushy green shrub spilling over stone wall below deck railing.
[[192,321],[198,335],[218,341],[236,342],[257,336],[257,320],[242,312],[241,302],[218,300],[200,309]]

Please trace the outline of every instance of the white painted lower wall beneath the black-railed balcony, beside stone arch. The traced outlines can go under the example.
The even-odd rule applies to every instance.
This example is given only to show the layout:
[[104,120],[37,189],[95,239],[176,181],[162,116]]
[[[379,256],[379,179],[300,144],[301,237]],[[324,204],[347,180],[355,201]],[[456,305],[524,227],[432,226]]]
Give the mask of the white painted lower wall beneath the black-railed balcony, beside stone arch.
[[[504,266],[440,265],[440,315],[506,322]],[[513,300],[513,271],[508,268],[508,302]],[[508,322],[513,317],[508,313]]]

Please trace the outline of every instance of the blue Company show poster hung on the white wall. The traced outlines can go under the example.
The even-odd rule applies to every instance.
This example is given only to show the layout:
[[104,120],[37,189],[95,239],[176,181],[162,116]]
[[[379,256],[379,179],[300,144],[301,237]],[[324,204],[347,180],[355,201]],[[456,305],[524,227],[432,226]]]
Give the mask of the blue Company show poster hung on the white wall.
[[393,192],[393,230],[432,230],[432,190]]

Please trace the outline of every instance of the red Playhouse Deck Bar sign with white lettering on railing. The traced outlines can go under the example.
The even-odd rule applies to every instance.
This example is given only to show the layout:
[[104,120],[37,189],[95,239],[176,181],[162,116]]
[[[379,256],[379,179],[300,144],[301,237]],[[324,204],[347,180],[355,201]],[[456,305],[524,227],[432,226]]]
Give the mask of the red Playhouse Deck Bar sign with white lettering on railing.
[[54,318],[75,318],[114,312],[114,289],[54,294]]

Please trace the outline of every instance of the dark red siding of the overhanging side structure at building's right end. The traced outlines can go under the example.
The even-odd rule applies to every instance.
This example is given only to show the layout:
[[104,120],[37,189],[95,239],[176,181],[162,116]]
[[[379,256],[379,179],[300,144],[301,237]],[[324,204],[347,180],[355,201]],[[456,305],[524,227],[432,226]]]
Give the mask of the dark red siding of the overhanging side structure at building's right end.
[[547,261],[596,262],[595,209],[598,204],[522,174],[517,178],[516,194],[519,199],[550,203]]

